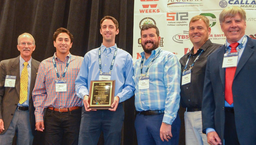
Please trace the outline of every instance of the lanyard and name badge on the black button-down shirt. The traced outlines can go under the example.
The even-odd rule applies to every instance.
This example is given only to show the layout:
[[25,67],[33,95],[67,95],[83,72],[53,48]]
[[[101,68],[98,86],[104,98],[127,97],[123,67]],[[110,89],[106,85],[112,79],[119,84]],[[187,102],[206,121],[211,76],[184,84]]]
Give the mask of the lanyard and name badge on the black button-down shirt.
[[188,61],[190,59],[191,54],[188,57],[188,60],[186,62],[185,68],[182,72],[182,81],[181,81],[181,85],[183,86],[184,84],[188,84],[191,82],[191,69],[193,68],[195,62],[197,61],[197,59],[199,58],[199,56],[204,52],[204,50],[201,50],[201,52],[198,54],[198,56],[196,57],[195,61],[190,65],[190,68],[187,70],[187,65],[188,65]]

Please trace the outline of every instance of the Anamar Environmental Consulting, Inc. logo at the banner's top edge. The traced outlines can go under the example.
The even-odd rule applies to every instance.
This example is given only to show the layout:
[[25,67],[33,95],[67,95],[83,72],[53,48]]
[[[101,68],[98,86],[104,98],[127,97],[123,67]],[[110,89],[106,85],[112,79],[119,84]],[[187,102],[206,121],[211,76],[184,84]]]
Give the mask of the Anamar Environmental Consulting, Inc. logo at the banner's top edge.
[[204,6],[203,0],[168,0],[167,7],[199,7]]

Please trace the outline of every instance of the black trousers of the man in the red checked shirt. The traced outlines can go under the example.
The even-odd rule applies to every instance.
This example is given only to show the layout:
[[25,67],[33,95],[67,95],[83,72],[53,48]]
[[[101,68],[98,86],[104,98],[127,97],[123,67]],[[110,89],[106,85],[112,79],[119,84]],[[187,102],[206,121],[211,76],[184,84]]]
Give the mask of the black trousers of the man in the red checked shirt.
[[58,112],[47,109],[45,115],[45,144],[78,144],[81,109]]

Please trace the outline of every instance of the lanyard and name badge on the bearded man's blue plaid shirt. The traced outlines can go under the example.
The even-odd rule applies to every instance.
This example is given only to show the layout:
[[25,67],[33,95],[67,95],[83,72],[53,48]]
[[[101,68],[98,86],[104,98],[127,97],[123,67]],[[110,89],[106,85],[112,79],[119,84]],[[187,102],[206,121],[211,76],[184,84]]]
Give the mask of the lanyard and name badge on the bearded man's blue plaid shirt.
[[141,58],[141,77],[139,77],[139,90],[141,89],[149,89],[149,76],[147,76],[147,72],[148,69],[150,68],[150,66],[152,65],[152,63],[155,61],[155,59],[157,58],[157,56],[162,52],[162,49],[160,49],[158,51],[158,53],[156,54],[156,56],[153,58],[153,60],[151,61],[151,63],[148,65],[145,74],[143,74],[142,72],[142,68],[143,68],[143,62],[144,62],[144,57]]

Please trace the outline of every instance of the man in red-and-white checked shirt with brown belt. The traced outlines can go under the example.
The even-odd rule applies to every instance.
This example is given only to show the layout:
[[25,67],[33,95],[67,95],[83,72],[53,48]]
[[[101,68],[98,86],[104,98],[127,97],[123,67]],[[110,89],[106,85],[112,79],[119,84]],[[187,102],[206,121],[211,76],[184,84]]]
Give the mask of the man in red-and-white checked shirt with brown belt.
[[70,54],[67,29],[57,29],[53,39],[56,53],[40,64],[33,91],[36,129],[45,131],[45,144],[78,144],[82,101],[74,81],[83,57]]

